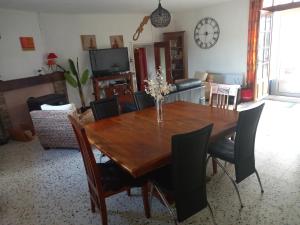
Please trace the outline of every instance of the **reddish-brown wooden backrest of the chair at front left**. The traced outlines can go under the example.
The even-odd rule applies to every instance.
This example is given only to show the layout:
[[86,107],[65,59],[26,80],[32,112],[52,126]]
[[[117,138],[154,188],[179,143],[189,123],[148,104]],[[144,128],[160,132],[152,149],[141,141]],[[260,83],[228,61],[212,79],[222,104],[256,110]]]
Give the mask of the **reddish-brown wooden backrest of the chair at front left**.
[[77,142],[80,147],[91,197],[93,198],[94,202],[99,202],[98,199],[101,196],[104,196],[103,186],[101,183],[101,170],[97,167],[85,129],[71,115],[69,115],[68,118],[72,124]]

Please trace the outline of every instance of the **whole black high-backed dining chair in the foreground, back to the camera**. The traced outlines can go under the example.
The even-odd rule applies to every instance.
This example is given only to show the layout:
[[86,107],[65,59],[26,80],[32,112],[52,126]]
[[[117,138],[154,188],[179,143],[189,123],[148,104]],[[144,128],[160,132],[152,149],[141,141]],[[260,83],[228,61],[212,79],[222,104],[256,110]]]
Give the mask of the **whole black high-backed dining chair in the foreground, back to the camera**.
[[[205,164],[212,127],[210,124],[200,130],[174,135],[171,143],[171,164],[150,175],[150,201],[155,190],[168,208],[175,224],[206,207],[213,217],[206,196]],[[175,200],[177,216],[170,208],[165,195]],[[213,222],[215,223],[214,217]]]

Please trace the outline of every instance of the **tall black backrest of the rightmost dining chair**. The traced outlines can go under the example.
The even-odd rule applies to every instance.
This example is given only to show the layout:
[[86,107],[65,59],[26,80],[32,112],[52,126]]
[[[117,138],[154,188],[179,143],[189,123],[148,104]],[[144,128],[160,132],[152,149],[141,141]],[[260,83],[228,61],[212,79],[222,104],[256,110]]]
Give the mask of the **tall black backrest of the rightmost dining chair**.
[[264,103],[239,113],[234,144],[236,182],[255,172],[255,135]]

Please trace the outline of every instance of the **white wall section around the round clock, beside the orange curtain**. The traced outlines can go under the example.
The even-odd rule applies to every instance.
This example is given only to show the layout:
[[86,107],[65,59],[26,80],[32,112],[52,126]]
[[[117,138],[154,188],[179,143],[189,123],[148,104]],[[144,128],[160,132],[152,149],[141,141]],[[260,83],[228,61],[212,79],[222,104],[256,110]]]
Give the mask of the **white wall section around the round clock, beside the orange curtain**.
[[[248,12],[249,0],[234,0],[175,14],[175,30],[186,31],[189,77],[193,77],[195,71],[246,73]],[[212,48],[201,49],[194,41],[194,29],[207,16],[218,22],[220,37]]]

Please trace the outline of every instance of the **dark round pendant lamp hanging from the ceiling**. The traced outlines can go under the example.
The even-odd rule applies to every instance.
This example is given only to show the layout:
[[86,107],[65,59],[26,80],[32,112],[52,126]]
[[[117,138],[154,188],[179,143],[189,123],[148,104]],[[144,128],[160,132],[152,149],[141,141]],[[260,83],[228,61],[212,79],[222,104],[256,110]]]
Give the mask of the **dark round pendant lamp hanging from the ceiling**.
[[167,27],[170,24],[171,14],[161,6],[160,0],[158,8],[151,13],[150,20],[154,27]]

